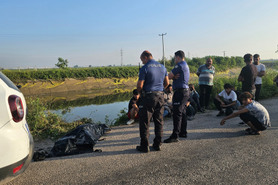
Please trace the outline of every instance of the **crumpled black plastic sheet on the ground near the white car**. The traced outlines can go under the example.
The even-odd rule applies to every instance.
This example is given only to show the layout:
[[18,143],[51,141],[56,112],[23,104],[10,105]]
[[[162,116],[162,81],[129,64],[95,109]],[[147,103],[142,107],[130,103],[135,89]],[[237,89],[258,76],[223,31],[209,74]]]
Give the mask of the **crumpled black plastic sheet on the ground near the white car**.
[[86,125],[80,125],[55,142],[49,157],[71,156],[94,152],[94,145],[108,131],[110,131],[110,128],[105,124],[97,125],[88,123]]

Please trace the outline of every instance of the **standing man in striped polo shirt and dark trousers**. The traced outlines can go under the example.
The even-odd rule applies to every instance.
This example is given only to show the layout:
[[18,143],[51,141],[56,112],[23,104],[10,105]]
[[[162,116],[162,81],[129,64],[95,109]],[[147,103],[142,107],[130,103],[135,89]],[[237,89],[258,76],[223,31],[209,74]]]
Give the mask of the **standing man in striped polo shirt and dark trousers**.
[[212,93],[212,87],[214,86],[213,81],[215,76],[215,68],[212,66],[212,58],[207,58],[205,64],[199,66],[197,70],[197,76],[199,76],[200,87],[199,101],[201,110],[204,112],[204,106],[206,109],[210,109],[210,94]]

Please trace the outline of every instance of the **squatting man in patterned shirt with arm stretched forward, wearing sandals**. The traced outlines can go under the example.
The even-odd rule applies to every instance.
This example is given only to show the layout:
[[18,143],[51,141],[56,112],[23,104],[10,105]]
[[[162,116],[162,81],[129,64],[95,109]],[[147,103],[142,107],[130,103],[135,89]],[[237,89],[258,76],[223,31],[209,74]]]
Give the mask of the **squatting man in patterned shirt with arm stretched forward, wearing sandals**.
[[261,131],[266,130],[266,127],[270,127],[269,114],[266,108],[252,98],[253,96],[250,93],[242,93],[240,99],[243,104],[238,107],[239,111],[225,117],[220,125],[224,125],[227,119],[240,115],[240,119],[250,126],[245,130],[245,134],[259,135]]

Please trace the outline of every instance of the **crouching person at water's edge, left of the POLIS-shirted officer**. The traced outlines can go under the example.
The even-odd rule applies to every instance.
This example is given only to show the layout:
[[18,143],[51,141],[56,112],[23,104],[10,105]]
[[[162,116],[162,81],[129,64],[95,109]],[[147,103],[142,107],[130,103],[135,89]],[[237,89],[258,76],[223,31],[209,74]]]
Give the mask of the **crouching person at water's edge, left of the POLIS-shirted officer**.
[[139,108],[138,106],[140,105],[141,102],[141,98],[140,95],[138,93],[137,89],[134,89],[132,91],[134,97],[132,97],[129,101],[128,104],[128,113],[127,116],[129,117],[129,121],[127,121],[127,125],[130,125],[131,123],[134,123],[134,119],[139,119]]

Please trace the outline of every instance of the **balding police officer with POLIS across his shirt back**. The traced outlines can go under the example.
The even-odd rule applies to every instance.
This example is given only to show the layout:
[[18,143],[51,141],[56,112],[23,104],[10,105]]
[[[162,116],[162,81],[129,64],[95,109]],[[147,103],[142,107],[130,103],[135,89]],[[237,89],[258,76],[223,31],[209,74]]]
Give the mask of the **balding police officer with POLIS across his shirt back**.
[[140,69],[137,90],[140,92],[139,129],[141,143],[136,147],[138,151],[149,152],[149,125],[151,117],[155,124],[155,138],[153,148],[160,151],[163,136],[163,90],[169,84],[168,73],[164,65],[153,60],[149,51],[143,51],[140,56],[144,66]]

